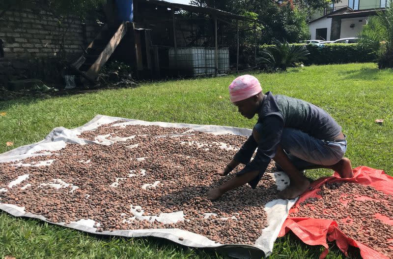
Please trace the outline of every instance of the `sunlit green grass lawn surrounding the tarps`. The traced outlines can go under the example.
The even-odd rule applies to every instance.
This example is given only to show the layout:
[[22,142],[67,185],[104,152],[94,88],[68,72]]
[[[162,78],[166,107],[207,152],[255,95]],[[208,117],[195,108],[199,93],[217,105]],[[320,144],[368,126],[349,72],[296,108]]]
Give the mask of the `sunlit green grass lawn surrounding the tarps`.
[[[314,103],[328,111],[348,136],[347,157],[393,174],[393,70],[374,64],[309,66],[285,73],[254,74],[263,91]],[[37,142],[53,128],[75,128],[97,114],[145,121],[212,124],[252,128],[228,99],[236,77],[145,83],[134,89],[102,90],[67,97],[21,98],[0,103],[0,153]],[[220,98],[222,97],[222,98]],[[384,119],[383,125],[374,123]],[[7,147],[6,142],[14,142]],[[312,170],[316,179],[331,174]],[[345,256],[334,244],[330,259]],[[277,240],[271,258],[318,258],[321,247],[295,237]],[[36,220],[0,213],[0,258],[226,258],[214,250],[190,249],[155,238],[102,238]],[[351,257],[359,255],[355,251]]]

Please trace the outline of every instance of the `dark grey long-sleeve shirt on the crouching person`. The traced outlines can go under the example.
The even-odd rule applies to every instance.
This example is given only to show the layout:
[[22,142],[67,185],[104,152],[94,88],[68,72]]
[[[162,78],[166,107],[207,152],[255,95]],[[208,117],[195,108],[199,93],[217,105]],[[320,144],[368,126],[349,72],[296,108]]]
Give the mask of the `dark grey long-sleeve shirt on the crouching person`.
[[[341,127],[323,109],[304,100],[275,96],[270,92],[262,100],[258,117],[254,129],[261,136],[260,142],[257,143],[251,135],[234,157],[246,165],[237,175],[259,170],[259,175],[249,182],[253,189],[275,157],[284,128],[300,129],[310,136],[325,140],[331,140],[341,132]],[[255,158],[250,162],[256,148]]]

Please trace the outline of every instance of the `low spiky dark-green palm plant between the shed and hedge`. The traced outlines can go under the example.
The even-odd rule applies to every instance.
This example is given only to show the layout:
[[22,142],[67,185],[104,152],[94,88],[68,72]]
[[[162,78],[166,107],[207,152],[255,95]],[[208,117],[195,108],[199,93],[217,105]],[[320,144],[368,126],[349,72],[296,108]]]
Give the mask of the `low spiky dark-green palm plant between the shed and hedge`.
[[289,44],[275,40],[275,45],[268,50],[261,52],[262,57],[258,59],[261,64],[266,64],[273,70],[286,70],[287,67],[295,66],[297,63],[306,60],[309,51],[305,45]]

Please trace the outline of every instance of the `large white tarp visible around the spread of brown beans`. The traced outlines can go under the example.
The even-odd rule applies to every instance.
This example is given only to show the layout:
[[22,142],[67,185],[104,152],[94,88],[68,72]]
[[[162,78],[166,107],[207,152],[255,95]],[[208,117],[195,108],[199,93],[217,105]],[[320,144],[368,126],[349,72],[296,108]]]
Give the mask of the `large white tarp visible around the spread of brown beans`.
[[[252,132],[251,129],[245,129],[245,128],[234,128],[234,127],[212,126],[212,125],[164,123],[164,122],[145,122],[139,120],[97,115],[94,119],[92,119],[90,122],[88,122],[82,127],[76,129],[65,129],[63,127],[55,128],[45,137],[44,140],[40,142],[31,145],[22,146],[14,150],[11,150],[9,152],[0,154],[0,162],[11,162],[11,161],[26,159],[32,156],[43,156],[43,162],[50,164],[51,161],[46,161],[45,156],[50,155],[51,153],[49,152],[40,153],[40,154],[33,154],[33,153],[41,150],[56,151],[65,147],[66,143],[77,143],[82,145],[92,144],[92,143],[110,145],[114,143],[114,141],[116,140],[113,139],[108,140],[106,138],[102,138],[100,139],[100,141],[91,141],[91,140],[80,138],[79,134],[81,134],[81,132],[85,130],[94,130],[97,129],[100,125],[113,123],[119,120],[126,121],[126,122],[117,123],[112,126],[156,125],[162,127],[191,128],[191,129],[210,132],[214,134],[232,133],[242,136],[249,136]],[[102,141],[103,139],[105,141]],[[288,177],[282,172],[271,173],[271,176],[273,176],[276,179],[276,184],[279,190],[285,188],[286,185],[284,185],[284,182],[289,182]],[[26,178],[26,176],[20,176],[20,177],[21,177],[20,179],[19,178],[15,179],[13,184],[17,183],[18,181],[22,182],[24,178]],[[61,184],[61,183],[57,183],[57,184]],[[6,191],[6,189],[4,190],[0,189],[0,192],[1,191]],[[249,258],[249,257],[253,257],[253,255],[256,255],[256,257],[260,257],[262,255],[262,252],[265,256],[271,254],[274,242],[277,239],[281,226],[288,215],[289,209],[292,207],[295,201],[296,201],[295,199],[292,200],[276,199],[266,204],[264,209],[267,213],[267,217],[268,217],[267,220],[269,226],[262,230],[262,235],[255,241],[254,246],[236,245],[236,244],[223,245],[220,243],[215,243],[214,241],[206,238],[205,236],[178,228],[113,230],[111,232],[110,231],[96,232],[97,228],[93,227],[95,221],[92,219],[80,220],[78,222],[71,222],[70,224],[65,224],[65,223],[55,223],[55,224],[65,227],[71,227],[89,233],[102,234],[102,235],[115,235],[115,236],[125,236],[125,237],[140,237],[140,236],[162,237],[162,238],[169,239],[173,242],[190,247],[218,248],[219,250],[224,250],[225,252],[229,252],[231,256],[237,258]],[[8,212],[13,216],[36,218],[43,221],[47,221],[46,218],[43,217],[42,215],[35,215],[29,212],[26,213],[24,207],[19,207],[13,204],[5,204],[0,202],[0,209]],[[176,215],[173,214],[173,217],[176,217]],[[184,240],[179,240],[179,237],[183,237]]]

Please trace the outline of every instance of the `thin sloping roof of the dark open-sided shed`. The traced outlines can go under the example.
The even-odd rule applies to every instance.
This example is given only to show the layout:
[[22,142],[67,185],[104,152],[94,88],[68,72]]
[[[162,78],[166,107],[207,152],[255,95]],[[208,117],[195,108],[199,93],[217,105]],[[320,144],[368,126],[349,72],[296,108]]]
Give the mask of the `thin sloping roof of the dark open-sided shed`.
[[159,6],[164,6],[168,7],[171,9],[181,9],[181,10],[186,10],[186,11],[191,11],[191,12],[199,12],[199,13],[207,13],[212,16],[217,16],[217,17],[226,17],[226,18],[232,18],[236,20],[243,20],[243,21],[249,21],[249,22],[257,22],[257,23],[262,23],[261,21],[257,19],[253,19],[247,16],[242,16],[238,14],[233,14],[230,12],[225,12],[223,10],[211,8],[211,7],[199,7],[195,5],[187,5],[187,4],[181,4],[181,3],[172,3],[172,2],[167,2],[163,0],[138,0],[140,2],[144,3],[151,3],[151,4],[156,4]]

